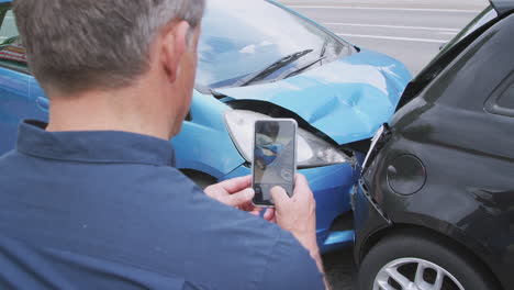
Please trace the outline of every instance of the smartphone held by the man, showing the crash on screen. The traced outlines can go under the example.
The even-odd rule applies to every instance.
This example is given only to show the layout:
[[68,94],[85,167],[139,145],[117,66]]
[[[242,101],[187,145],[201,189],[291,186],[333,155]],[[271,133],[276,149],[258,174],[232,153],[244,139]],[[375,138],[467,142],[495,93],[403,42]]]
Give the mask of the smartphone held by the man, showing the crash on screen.
[[293,119],[255,122],[252,163],[254,204],[275,207],[270,190],[282,187],[288,196],[294,189],[297,172],[297,121]]

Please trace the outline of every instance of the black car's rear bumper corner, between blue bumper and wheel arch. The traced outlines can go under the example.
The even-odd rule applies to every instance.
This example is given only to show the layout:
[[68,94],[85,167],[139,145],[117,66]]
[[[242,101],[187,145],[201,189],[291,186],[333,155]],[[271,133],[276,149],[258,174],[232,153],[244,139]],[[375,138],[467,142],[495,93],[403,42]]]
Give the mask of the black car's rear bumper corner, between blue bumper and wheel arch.
[[359,265],[372,235],[391,226],[391,221],[387,219],[386,214],[371,199],[367,186],[362,180],[354,188],[351,208],[354,210],[355,225],[354,258],[356,264]]

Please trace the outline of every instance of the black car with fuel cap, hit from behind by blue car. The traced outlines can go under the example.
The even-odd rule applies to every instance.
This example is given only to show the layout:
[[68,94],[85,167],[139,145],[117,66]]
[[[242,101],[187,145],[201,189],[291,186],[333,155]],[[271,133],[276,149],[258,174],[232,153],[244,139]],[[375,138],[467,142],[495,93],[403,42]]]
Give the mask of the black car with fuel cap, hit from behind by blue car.
[[407,86],[353,194],[360,290],[514,289],[514,1]]

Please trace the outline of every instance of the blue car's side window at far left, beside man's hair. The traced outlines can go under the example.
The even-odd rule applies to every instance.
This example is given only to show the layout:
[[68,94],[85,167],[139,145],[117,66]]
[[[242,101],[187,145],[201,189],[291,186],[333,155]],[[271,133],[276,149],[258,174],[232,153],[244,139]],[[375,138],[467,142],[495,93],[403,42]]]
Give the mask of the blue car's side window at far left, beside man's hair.
[[12,10],[7,10],[0,27],[0,65],[27,70],[25,48],[21,43]]

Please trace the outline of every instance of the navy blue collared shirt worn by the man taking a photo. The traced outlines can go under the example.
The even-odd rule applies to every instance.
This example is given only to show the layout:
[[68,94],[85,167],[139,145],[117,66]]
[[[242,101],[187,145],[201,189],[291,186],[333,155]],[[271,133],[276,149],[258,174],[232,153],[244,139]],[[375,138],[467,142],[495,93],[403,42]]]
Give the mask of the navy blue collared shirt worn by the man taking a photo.
[[323,289],[290,233],[206,197],[168,142],[45,125],[0,157],[1,289]]

